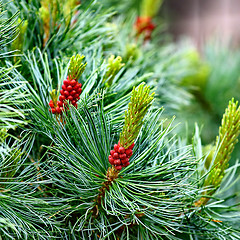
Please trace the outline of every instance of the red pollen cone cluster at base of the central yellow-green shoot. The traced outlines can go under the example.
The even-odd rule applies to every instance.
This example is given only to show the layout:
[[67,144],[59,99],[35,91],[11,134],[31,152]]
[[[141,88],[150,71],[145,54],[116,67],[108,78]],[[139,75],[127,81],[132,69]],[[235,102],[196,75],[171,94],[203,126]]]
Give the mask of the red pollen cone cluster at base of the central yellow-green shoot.
[[132,149],[134,147],[134,143],[128,148],[124,148],[120,146],[120,142],[114,145],[114,150],[110,151],[108,156],[109,163],[114,165],[117,170],[121,170],[123,167],[127,167],[129,163],[129,158],[132,156]]

